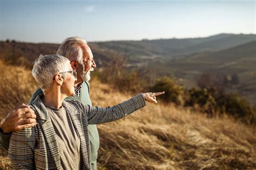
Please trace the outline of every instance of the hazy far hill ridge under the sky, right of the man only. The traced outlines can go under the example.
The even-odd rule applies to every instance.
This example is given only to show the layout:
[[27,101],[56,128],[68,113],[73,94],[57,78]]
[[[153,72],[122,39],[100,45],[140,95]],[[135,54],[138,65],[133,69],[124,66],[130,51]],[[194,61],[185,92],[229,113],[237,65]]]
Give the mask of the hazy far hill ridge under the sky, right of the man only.
[[256,40],[256,35],[222,33],[206,38],[122,40],[92,42],[96,46],[120,53],[128,52],[132,57],[173,57],[200,51],[218,51]]

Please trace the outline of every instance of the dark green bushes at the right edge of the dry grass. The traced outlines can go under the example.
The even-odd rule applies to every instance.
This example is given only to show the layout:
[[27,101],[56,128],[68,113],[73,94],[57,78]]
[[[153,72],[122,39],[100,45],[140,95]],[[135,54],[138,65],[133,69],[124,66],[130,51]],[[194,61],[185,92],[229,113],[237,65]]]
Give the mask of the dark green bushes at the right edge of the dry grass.
[[192,88],[186,92],[185,106],[207,113],[208,117],[227,113],[246,124],[255,121],[255,110],[247,100],[238,94],[215,94],[215,89]]

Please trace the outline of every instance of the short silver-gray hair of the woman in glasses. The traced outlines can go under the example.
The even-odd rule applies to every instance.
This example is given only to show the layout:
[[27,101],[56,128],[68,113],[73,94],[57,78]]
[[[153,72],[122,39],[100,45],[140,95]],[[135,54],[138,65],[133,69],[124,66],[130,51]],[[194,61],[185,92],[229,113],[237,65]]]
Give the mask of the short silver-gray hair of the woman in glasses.
[[[67,71],[69,60],[60,55],[40,55],[34,62],[32,76],[39,87],[46,91],[53,85],[56,73]],[[63,73],[63,78],[66,74]]]

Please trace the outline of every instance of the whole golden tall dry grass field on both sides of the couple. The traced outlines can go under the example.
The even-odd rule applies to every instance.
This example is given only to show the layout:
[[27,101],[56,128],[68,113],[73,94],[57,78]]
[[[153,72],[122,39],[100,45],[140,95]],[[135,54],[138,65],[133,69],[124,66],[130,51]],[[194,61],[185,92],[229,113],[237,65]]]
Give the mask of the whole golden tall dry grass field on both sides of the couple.
[[[31,71],[0,63],[1,118],[18,103],[28,102],[36,85]],[[18,75],[18,76],[17,76]],[[136,95],[136,94],[134,94]],[[93,105],[111,106],[129,99],[96,79],[91,81]],[[253,169],[256,168],[254,126],[173,105],[151,104],[128,117],[98,125],[99,169]],[[9,168],[0,149],[0,168]]]

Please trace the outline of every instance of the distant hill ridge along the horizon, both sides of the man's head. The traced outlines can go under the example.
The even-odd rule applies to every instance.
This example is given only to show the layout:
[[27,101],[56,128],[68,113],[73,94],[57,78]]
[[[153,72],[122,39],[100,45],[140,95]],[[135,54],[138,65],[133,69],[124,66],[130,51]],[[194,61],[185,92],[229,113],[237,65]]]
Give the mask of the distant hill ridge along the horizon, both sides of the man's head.
[[[109,42],[90,42],[93,53],[100,60],[111,59],[113,53],[127,53],[132,59],[171,58],[201,51],[219,51],[256,40],[256,35],[221,33],[205,38],[118,40]],[[34,60],[40,53],[55,53],[59,44],[0,42],[0,55],[10,53]],[[9,51],[8,51],[9,49]],[[12,49],[12,50],[10,50]],[[9,54],[6,54],[6,50]],[[111,56],[109,56],[111,54]]]

